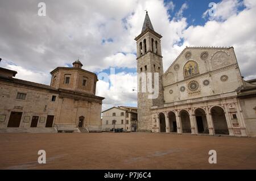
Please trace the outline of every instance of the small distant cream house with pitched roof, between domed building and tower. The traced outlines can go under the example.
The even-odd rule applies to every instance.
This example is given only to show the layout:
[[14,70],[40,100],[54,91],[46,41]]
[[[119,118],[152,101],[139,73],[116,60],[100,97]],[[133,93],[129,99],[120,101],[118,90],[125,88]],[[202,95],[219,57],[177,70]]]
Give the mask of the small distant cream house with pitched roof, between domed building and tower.
[[123,128],[123,131],[137,131],[137,107],[118,106],[102,112],[102,131]]

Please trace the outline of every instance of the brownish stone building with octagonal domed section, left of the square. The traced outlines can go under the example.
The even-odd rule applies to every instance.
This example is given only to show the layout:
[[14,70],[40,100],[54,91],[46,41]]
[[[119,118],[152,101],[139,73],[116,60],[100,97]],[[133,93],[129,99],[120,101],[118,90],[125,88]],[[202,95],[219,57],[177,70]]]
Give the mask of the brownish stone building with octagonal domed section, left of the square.
[[0,68],[0,131],[101,131],[101,106],[96,96],[97,75],[73,68],[51,71],[51,85],[16,79],[16,71]]

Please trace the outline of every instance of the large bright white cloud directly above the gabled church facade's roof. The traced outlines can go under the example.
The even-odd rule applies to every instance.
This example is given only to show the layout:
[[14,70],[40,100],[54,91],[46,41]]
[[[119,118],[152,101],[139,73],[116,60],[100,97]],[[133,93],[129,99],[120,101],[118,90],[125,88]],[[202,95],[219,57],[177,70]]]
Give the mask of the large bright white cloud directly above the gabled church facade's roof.
[[[225,1],[226,2],[226,1]],[[222,3],[229,6],[229,3]],[[247,5],[251,5],[247,2]],[[237,4],[237,6],[240,6]],[[222,7],[225,9],[225,7]],[[197,46],[232,46],[245,78],[256,78],[255,48],[256,7],[250,6],[238,14],[233,14],[224,22],[212,20],[204,26],[191,26],[184,31],[185,44]]]

